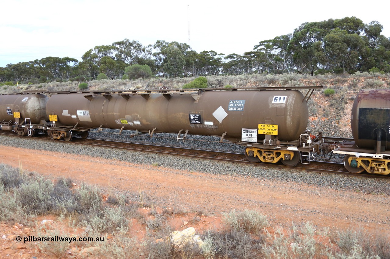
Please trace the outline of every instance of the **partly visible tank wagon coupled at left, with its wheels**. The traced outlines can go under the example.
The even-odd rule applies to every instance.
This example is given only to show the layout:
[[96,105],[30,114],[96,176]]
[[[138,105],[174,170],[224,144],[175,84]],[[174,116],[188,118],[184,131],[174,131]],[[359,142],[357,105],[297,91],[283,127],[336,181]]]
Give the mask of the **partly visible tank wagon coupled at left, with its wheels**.
[[0,96],[0,129],[14,130],[18,135],[34,136],[39,126],[48,125],[44,94],[2,94]]

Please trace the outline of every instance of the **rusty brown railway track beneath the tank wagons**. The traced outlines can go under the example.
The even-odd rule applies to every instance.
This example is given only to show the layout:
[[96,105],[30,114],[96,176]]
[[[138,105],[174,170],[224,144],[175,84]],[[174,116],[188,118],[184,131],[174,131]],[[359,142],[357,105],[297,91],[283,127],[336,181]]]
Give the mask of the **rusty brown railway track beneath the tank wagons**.
[[[77,145],[89,145],[95,147],[105,147],[105,148],[115,148],[115,149],[124,149],[129,151],[138,151],[138,152],[151,152],[154,154],[167,154],[173,156],[183,156],[187,158],[199,158],[199,159],[209,159],[216,161],[225,161],[230,163],[240,163],[251,166],[260,166],[261,168],[275,168],[275,170],[285,169],[296,169],[304,170],[308,172],[317,172],[317,173],[337,173],[342,175],[353,175],[358,177],[370,177],[370,178],[384,178],[388,179],[388,176],[384,175],[372,175],[368,173],[359,173],[354,174],[347,172],[342,163],[328,162],[328,161],[310,161],[309,164],[300,164],[298,166],[289,167],[281,165],[280,163],[252,163],[246,160],[245,154],[243,153],[231,153],[231,152],[222,152],[222,151],[212,151],[212,150],[203,150],[203,149],[190,149],[183,147],[172,147],[172,146],[161,146],[161,145],[152,145],[152,144],[140,144],[132,142],[120,142],[113,140],[102,140],[97,138],[80,138],[73,137],[69,142],[64,140],[51,140],[50,137],[37,134],[35,137],[27,136],[18,136],[14,133],[4,133],[0,132],[0,135],[7,135],[12,137],[25,137],[25,138],[34,138],[41,141],[57,141],[62,142],[64,145],[77,144]],[[339,142],[345,139],[342,138],[325,138],[326,141],[330,142]],[[308,162],[305,161],[304,162]]]

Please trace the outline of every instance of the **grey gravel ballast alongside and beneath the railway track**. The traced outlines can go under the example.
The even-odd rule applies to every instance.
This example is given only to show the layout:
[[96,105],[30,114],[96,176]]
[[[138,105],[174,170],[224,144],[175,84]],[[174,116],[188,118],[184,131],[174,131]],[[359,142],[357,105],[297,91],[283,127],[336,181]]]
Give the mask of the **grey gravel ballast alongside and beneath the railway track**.
[[[111,130],[104,133],[90,133],[92,138],[106,138],[117,140],[118,137],[123,138],[125,135],[112,134]],[[116,131],[117,132],[117,131]],[[173,134],[159,136],[172,137]],[[127,135],[129,136],[129,135]],[[215,137],[201,137],[201,136],[189,136],[193,138],[200,138],[202,140],[213,140]],[[236,144],[219,144],[214,142],[198,142],[198,141],[186,141],[177,142],[174,138],[163,138],[160,142],[156,143],[150,141],[149,136],[129,138],[129,141],[144,142],[148,144],[158,144],[164,142],[164,145],[171,144],[172,146],[185,146],[195,149],[207,149],[207,150],[221,150],[230,151],[236,150],[238,153],[243,152],[243,147]],[[149,140],[149,142],[147,141]],[[219,140],[219,139],[218,139]],[[371,179],[359,176],[345,176],[335,175],[327,173],[314,173],[304,172],[297,169],[277,169],[274,168],[261,168],[260,166],[233,164],[228,162],[210,161],[206,159],[193,159],[182,158],[178,156],[170,156],[165,154],[152,154],[147,152],[126,151],[120,149],[107,149],[101,147],[90,147],[84,145],[76,145],[71,143],[62,143],[60,141],[46,141],[35,140],[27,137],[12,137],[12,136],[0,136],[0,144],[4,146],[20,147],[27,149],[46,150],[53,152],[64,152],[75,155],[86,155],[105,159],[115,159],[124,162],[146,164],[146,165],[158,165],[168,168],[174,168],[177,170],[184,170],[188,172],[205,172],[211,174],[222,175],[236,175],[245,177],[254,177],[259,180],[280,180],[284,182],[295,182],[298,184],[308,184],[319,187],[327,187],[338,190],[349,190],[356,192],[364,192],[371,194],[390,195],[390,180],[388,179]],[[217,145],[215,145],[217,144]],[[114,163],[114,160],[113,160]],[[156,167],[158,168],[158,167]]]

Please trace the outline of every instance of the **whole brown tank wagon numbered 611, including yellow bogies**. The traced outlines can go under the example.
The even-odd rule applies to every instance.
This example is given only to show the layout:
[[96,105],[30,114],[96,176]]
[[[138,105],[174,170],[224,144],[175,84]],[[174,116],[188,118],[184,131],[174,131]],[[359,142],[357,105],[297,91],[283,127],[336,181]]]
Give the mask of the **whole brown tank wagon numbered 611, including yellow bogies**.
[[[322,87],[321,87],[322,88]],[[313,89],[312,89],[313,91]],[[309,96],[310,97],[310,96]],[[219,136],[246,147],[252,162],[294,166],[301,152],[319,152],[321,140],[304,133],[307,99],[298,90],[196,90],[60,93],[51,96],[44,127],[53,139],[69,141],[74,132],[112,128],[139,133]]]

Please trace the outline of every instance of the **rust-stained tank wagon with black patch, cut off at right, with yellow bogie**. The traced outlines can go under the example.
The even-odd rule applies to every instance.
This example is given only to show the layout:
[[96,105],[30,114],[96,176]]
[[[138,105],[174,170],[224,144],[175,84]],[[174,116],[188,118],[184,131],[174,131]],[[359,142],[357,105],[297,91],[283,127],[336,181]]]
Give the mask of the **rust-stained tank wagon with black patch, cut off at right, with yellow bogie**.
[[390,90],[360,90],[351,111],[354,141],[333,151],[346,154],[344,166],[351,173],[390,173]]

